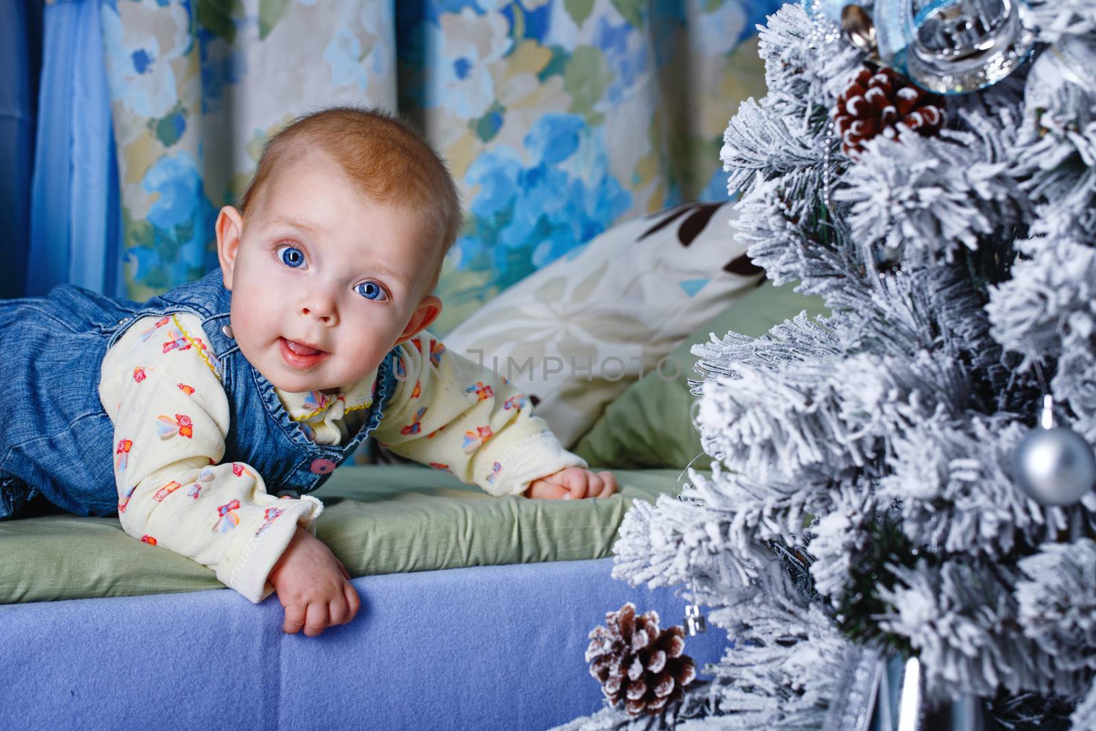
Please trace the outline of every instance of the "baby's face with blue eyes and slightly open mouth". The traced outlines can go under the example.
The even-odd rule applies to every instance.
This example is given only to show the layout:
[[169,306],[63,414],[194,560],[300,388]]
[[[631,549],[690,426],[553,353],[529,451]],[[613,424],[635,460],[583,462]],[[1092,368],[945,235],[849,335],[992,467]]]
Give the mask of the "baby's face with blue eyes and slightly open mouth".
[[233,228],[233,214],[225,208],[217,224],[233,335],[278,388],[354,384],[436,317],[421,324],[424,302],[441,307],[424,292],[437,245],[429,228],[361,193],[326,156],[277,171],[242,226]]

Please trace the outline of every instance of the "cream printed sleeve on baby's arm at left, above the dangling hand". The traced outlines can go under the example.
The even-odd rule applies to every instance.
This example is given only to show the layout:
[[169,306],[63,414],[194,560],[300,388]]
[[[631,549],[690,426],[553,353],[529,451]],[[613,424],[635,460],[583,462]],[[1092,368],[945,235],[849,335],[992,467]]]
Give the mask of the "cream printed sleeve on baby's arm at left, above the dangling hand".
[[310,527],[322,504],[279,500],[248,465],[218,464],[228,399],[203,338],[192,315],[146,318],[104,358],[100,398],[114,422],[118,519],[258,603],[274,591],[267,574],[297,526]]

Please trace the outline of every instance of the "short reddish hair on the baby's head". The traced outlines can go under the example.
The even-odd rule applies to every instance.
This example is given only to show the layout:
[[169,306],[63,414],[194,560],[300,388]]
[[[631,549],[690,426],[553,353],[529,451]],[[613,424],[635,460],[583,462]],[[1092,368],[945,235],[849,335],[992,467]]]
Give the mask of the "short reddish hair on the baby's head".
[[240,202],[247,218],[283,161],[308,150],[335,160],[363,193],[425,217],[437,232],[442,259],[460,232],[460,195],[445,161],[409,122],[379,108],[334,106],[297,117],[263,147],[254,178]]

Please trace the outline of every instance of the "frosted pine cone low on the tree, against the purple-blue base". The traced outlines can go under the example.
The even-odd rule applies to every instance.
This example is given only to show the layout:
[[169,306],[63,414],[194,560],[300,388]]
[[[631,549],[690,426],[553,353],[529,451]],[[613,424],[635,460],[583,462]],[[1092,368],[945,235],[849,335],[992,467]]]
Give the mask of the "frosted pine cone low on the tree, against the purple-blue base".
[[624,698],[629,716],[657,716],[682,697],[696,678],[696,664],[684,654],[684,629],[660,631],[659,613],[637,617],[631,602],[606,613],[605,624],[590,632],[586,662],[614,706]]

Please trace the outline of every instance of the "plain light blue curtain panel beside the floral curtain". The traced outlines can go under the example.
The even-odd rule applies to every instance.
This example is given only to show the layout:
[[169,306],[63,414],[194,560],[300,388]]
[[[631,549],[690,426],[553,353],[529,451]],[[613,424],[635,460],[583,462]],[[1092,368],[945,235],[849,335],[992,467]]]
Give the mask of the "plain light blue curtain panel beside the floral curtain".
[[[30,0],[33,1],[33,0]],[[27,295],[121,295],[117,162],[99,0],[46,5],[31,181]]]

